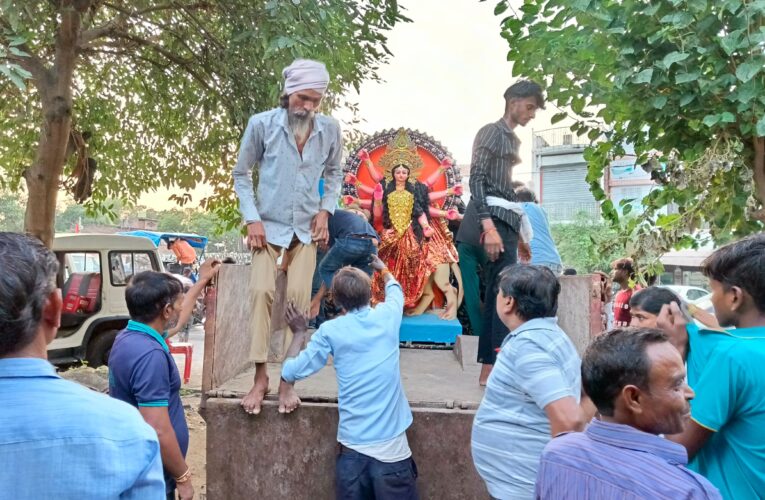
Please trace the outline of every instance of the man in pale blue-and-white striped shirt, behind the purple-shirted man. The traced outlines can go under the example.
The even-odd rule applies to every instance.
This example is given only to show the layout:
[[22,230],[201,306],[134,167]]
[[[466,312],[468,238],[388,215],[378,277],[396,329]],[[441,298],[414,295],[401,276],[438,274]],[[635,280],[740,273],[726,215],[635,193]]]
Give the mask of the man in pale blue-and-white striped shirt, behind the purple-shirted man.
[[473,421],[473,463],[489,494],[534,498],[542,450],[552,436],[584,428],[580,359],[558,327],[560,284],[542,266],[502,271],[497,314],[510,330]]

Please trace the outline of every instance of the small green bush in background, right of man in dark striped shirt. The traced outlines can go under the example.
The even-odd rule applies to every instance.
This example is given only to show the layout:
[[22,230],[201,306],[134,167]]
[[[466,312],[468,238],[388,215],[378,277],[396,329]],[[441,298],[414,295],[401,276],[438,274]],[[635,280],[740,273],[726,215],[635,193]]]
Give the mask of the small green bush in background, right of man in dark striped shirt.
[[613,244],[617,231],[585,212],[577,214],[572,222],[552,224],[550,232],[563,265],[579,273],[609,272],[611,262],[623,257],[623,250]]

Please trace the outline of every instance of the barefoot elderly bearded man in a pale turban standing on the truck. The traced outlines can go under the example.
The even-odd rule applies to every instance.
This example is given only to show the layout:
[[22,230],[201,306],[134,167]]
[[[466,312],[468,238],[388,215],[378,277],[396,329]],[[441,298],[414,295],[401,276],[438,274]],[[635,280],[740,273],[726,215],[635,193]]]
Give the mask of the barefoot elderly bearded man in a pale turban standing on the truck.
[[[285,299],[308,310],[316,244],[327,243],[327,222],[342,183],[340,125],[317,113],[329,84],[327,69],[318,61],[297,59],[283,76],[280,107],[250,117],[234,167],[234,189],[252,250],[250,357],[256,368],[253,387],[242,400],[251,414],[260,413],[268,392],[266,362],[277,270],[287,271]],[[253,170],[258,173],[257,196]],[[291,385],[282,384],[279,392],[279,411],[292,411],[300,403]]]

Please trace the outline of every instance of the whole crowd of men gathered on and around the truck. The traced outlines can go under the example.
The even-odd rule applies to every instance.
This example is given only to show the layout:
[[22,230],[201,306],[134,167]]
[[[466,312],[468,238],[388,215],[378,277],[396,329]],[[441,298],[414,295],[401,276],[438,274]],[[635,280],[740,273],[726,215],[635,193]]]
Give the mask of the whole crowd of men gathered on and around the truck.
[[[257,415],[268,391],[271,309],[281,269],[292,338],[279,411],[299,407],[295,383],[332,355],[340,415],[337,498],[416,499],[417,466],[407,438],[412,412],[399,366],[401,286],[376,257],[365,214],[335,210],[343,147],[337,122],[317,113],[329,84],[326,68],[297,60],[284,76],[281,106],[249,120],[234,170],[253,251],[256,371],[242,406]],[[718,323],[712,329],[697,327],[677,297],[653,287],[633,294],[632,264],[615,263],[627,276],[616,273],[625,292],[616,300],[630,317],[615,318],[616,328],[596,337],[580,359],[556,320],[560,258],[535,250],[524,237],[526,217],[544,246],[546,221],[533,206],[522,206],[534,200],[519,197],[522,189],[512,182],[519,161],[513,129],[543,106],[542,90],[521,81],[504,97],[503,118],[476,137],[473,197],[457,235],[460,258],[470,254],[487,271],[478,361],[489,368],[471,447],[489,494],[761,498],[765,235],[722,247],[704,263]],[[328,244],[336,250],[330,246],[318,265],[320,295],[329,291],[342,314],[309,335],[306,311],[320,301],[315,295],[312,307],[317,246]],[[534,254],[542,260],[535,262]],[[518,264],[518,257],[531,263]],[[217,266],[205,263],[186,294],[164,273],[131,278],[125,290],[131,320],[109,357],[107,397],[61,379],[46,360],[62,309],[55,256],[31,237],[0,233],[3,497],[193,498],[181,382],[165,332],[188,317]],[[385,301],[376,307],[370,305],[372,272],[385,280]]]

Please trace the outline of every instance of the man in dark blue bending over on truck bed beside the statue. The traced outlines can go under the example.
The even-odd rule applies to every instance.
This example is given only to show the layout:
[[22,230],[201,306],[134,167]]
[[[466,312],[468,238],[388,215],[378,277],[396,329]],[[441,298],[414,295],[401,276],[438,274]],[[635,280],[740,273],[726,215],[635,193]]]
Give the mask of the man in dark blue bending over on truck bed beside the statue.
[[377,245],[380,240],[368,221],[367,213],[354,205],[344,210],[337,209],[330,216],[329,250],[316,267],[316,273],[321,278],[321,286],[311,300],[311,318],[319,314],[321,301],[338,269],[353,266],[372,275],[371,256],[377,254]]

